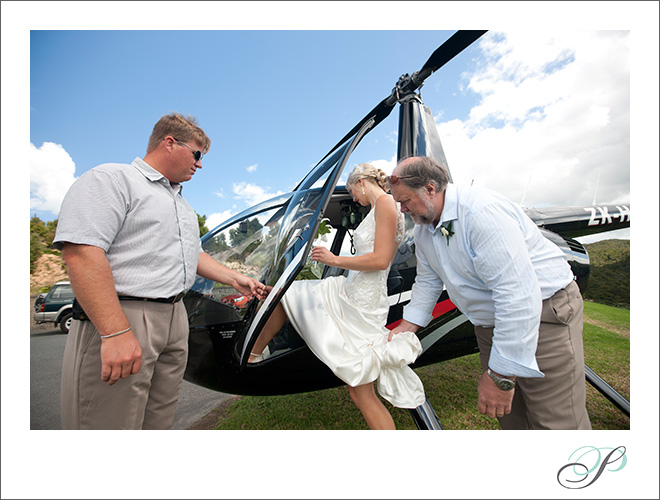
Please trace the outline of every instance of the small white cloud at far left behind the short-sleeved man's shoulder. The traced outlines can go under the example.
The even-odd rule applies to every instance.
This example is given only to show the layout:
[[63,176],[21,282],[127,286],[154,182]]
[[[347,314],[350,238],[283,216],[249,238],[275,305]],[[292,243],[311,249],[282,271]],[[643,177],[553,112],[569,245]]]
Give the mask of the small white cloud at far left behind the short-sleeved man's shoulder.
[[64,195],[76,180],[76,164],[60,145],[30,143],[30,209],[59,214]]

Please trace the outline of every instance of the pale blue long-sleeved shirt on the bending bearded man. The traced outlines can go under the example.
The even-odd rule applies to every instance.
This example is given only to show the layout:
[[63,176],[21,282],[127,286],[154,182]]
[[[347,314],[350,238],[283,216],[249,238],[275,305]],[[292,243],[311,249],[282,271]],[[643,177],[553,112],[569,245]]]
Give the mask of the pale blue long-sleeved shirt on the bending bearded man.
[[[453,234],[447,238],[443,227]],[[442,293],[474,325],[494,327],[489,367],[543,377],[536,362],[542,301],[568,286],[564,253],[522,209],[493,191],[449,184],[436,227],[415,227],[417,277],[403,317],[426,326]]]

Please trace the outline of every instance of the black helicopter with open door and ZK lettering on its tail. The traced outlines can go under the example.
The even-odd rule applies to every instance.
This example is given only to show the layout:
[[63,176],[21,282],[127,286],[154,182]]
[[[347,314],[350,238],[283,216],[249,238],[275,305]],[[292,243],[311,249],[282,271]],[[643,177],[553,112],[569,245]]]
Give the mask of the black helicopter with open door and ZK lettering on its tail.
[[[183,299],[190,326],[186,380],[238,395],[291,394],[343,385],[288,321],[269,343],[263,361],[248,364],[247,359],[268,317],[294,280],[324,279],[346,272],[314,262],[309,254],[319,244],[335,254],[351,253],[352,231],[368,209],[355,203],[338,181],[360,141],[397,105],[397,161],[430,156],[449,169],[433,115],[418,90],[431,74],[484,33],[456,32],[419,71],[401,76],[391,94],[330,149],[292,192],[257,204],[202,237],[206,253],[271,287],[271,292],[265,299],[248,301],[230,286],[197,278]],[[524,210],[541,233],[565,253],[581,291],[588,285],[589,255],[574,238],[630,227],[630,204]],[[401,321],[416,274],[414,222],[407,214],[405,218],[405,236],[387,281],[390,309],[386,326],[390,329]],[[478,352],[471,323],[446,290],[438,299],[433,320],[417,335],[422,354],[411,365],[413,369]],[[593,370],[585,370],[587,381],[630,415],[629,402]],[[428,398],[410,412],[419,429],[443,428]]]

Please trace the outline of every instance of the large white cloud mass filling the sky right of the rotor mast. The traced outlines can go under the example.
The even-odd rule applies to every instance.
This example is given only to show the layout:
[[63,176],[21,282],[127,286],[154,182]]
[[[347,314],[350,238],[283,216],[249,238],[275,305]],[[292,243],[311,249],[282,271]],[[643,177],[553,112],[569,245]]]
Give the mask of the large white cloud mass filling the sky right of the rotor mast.
[[630,201],[629,33],[494,34],[481,47],[478,105],[438,122],[454,180],[527,206],[582,205],[600,176],[597,202]]

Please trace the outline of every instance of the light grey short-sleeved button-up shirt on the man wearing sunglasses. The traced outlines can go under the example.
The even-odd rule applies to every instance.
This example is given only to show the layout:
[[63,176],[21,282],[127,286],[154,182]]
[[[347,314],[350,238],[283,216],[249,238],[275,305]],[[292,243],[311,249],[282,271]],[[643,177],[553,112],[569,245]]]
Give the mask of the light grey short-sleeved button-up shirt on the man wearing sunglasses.
[[66,194],[53,246],[105,250],[119,295],[163,298],[188,290],[202,248],[197,215],[181,189],[140,158],[99,165]]

